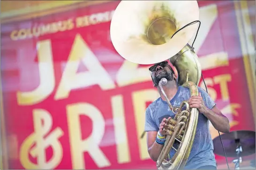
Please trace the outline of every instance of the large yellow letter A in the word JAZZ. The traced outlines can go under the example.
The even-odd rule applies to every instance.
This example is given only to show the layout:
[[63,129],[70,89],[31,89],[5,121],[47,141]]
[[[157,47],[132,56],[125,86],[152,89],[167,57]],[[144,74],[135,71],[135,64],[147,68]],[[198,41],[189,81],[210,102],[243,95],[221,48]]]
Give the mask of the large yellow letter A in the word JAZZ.
[[[76,73],[80,61],[86,65],[89,71]],[[55,99],[67,98],[72,89],[90,85],[99,85],[102,90],[115,88],[111,77],[83,41],[81,35],[76,35]]]

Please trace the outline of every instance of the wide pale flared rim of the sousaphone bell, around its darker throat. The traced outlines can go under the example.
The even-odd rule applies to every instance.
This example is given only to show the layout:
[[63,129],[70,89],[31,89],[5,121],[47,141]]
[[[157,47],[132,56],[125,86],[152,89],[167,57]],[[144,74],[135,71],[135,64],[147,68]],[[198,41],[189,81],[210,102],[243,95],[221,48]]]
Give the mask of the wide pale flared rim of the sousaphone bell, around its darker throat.
[[[174,18],[180,23],[180,25],[177,24],[177,30],[192,21],[199,20],[199,7],[196,0],[159,0],[158,3],[163,3],[167,7],[173,8]],[[182,29],[167,43],[161,45],[150,44],[140,36],[145,34],[143,23],[132,24],[143,22],[143,16],[148,14],[147,11],[150,11],[150,9],[145,9],[146,7],[151,7],[152,9],[152,1],[121,1],[113,14],[110,26],[111,40],[115,50],[121,57],[137,64],[155,64],[173,57],[190,41],[196,33],[198,25],[192,24]],[[187,11],[187,13],[184,11]],[[135,17],[140,16],[140,14],[141,18]],[[133,20],[135,18],[138,19]],[[129,24],[135,26],[129,28]],[[132,39],[130,37],[136,38]]]

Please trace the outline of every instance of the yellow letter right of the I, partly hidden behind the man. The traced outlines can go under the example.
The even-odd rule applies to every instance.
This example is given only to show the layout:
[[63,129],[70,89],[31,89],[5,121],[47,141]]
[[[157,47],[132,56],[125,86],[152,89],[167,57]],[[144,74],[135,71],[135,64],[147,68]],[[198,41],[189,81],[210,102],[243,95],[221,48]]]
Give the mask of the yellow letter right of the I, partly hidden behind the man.
[[140,135],[143,133],[145,126],[146,102],[154,101],[158,97],[159,93],[155,89],[146,89],[132,93],[135,122],[137,127],[137,139],[139,143],[139,152],[141,160],[150,158],[148,148],[146,145],[147,139],[140,138]]

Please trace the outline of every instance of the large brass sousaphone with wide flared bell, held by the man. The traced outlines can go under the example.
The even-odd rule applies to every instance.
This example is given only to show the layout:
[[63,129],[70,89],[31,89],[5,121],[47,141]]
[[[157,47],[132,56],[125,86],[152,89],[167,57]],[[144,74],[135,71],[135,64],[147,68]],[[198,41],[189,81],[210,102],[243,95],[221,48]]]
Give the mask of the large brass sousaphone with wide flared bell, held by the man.
[[[198,20],[196,0],[122,0],[113,14],[110,35],[115,50],[130,62],[155,64],[169,59],[178,72],[178,84],[196,96],[201,66],[188,42],[196,34]],[[158,85],[175,117],[166,121],[166,142],[157,167],[182,169],[194,142],[199,112],[189,108],[187,101],[172,106],[162,88],[166,83],[162,78]],[[178,148],[173,147],[175,141],[180,143]],[[171,149],[176,153],[168,159]]]

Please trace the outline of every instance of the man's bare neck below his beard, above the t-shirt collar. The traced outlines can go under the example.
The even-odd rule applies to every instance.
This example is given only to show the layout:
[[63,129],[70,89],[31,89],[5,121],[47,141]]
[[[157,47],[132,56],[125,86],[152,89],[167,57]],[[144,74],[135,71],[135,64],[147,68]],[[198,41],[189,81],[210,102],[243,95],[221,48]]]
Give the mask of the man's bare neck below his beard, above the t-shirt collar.
[[[178,87],[177,87],[177,85],[176,85],[176,82],[174,82],[174,81],[168,81],[168,82],[166,83],[166,85],[162,85],[162,87],[163,87],[163,90],[165,91],[166,96],[167,96],[167,98],[169,99],[169,101],[170,101],[171,99],[173,99],[173,97],[175,96],[175,94],[176,94],[177,91],[178,91]],[[159,86],[158,86],[158,92],[160,93],[161,98],[162,98],[164,101],[166,101],[166,98],[165,98],[165,96],[162,94],[161,89],[160,89]]]

